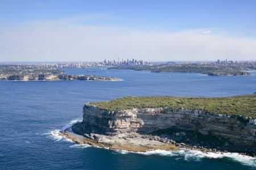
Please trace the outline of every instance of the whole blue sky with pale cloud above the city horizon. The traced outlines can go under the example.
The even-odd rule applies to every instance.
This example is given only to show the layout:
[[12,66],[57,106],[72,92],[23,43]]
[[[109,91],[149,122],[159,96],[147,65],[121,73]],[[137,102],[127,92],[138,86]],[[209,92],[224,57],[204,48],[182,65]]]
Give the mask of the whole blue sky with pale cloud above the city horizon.
[[256,1],[0,0],[0,62],[256,60]]

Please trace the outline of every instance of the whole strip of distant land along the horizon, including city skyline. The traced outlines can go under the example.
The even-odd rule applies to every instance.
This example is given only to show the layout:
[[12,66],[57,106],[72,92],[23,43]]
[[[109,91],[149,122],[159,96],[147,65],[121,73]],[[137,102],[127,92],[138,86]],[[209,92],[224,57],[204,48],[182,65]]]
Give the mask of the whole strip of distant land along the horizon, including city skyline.
[[[62,69],[92,67],[108,69],[129,69],[151,71],[152,73],[201,73],[209,76],[250,76],[256,70],[255,61],[215,61],[215,62],[148,62],[137,59],[117,61],[104,60],[91,63],[33,63],[0,65],[0,79],[4,80],[119,80],[104,76],[68,75]],[[60,70],[61,69],[61,70]]]

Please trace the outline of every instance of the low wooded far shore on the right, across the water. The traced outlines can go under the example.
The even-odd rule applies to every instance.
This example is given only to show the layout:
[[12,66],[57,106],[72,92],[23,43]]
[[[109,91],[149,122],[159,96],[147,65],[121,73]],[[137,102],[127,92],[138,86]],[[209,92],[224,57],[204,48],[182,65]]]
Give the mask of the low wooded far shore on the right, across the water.
[[117,65],[109,69],[148,70],[154,73],[201,73],[210,76],[249,76],[256,62],[217,61],[211,63],[163,63],[158,65]]

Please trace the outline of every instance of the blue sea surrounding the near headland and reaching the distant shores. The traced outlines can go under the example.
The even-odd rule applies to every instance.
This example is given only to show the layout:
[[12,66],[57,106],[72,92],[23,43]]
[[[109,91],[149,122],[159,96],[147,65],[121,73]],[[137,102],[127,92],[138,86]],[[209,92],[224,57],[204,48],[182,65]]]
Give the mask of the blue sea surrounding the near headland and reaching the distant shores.
[[[0,81],[0,169],[255,169],[255,160],[197,152],[147,154],[76,145],[57,129],[82,117],[84,103],[122,96],[233,96],[256,92],[256,76],[207,76],[94,68],[119,82]],[[65,69],[88,74],[87,69]],[[256,72],[252,72],[256,75]]]

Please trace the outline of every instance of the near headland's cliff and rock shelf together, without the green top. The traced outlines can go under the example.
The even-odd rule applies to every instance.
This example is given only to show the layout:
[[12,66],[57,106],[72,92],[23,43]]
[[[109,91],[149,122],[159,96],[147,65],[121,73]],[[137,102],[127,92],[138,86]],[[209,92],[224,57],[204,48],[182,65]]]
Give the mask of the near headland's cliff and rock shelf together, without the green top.
[[255,120],[195,111],[145,108],[110,112],[84,106],[83,121],[63,135],[79,144],[145,152],[187,148],[256,155]]

